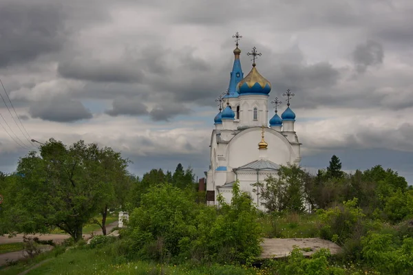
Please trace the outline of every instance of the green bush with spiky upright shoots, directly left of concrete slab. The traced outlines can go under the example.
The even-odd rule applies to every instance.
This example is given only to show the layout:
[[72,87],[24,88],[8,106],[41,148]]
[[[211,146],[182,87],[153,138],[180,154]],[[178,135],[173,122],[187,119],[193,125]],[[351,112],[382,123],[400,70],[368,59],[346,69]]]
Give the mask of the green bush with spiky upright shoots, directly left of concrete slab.
[[209,208],[205,208],[206,211],[198,217],[198,228],[202,228],[203,234],[194,241],[195,251],[215,262],[251,263],[261,252],[262,236],[253,201],[237,183],[233,186],[231,204],[223,197],[218,197],[218,201],[220,210],[217,214],[213,215]]

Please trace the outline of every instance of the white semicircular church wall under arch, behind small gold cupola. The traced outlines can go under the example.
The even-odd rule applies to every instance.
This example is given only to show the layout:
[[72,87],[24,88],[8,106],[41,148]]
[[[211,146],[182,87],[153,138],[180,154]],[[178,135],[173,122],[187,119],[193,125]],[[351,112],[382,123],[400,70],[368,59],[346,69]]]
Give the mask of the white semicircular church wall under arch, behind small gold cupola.
[[[256,127],[246,129],[233,137],[225,153],[228,166],[236,168],[259,159],[257,144],[261,140],[261,133],[262,129]],[[268,143],[266,152],[268,160],[284,165],[290,162],[290,155],[294,155],[293,148],[280,133],[267,128],[265,129],[265,140]]]

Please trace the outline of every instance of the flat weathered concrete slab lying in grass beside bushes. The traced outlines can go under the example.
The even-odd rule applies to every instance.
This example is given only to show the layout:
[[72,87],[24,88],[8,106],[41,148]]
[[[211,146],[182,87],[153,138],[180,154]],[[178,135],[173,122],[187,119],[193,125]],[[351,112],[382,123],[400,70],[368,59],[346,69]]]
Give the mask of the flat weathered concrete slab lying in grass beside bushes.
[[317,252],[320,248],[328,248],[331,254],[338,254],[341,252],[339,245],[319,239],[267,239],[264,238],[262,243],[262,254],[259,259],[277,259],[289,256],[293,251],[293,247],[297,245],[299,248],[310,248],[309,252],[303,251],[304,256],[310,256]]

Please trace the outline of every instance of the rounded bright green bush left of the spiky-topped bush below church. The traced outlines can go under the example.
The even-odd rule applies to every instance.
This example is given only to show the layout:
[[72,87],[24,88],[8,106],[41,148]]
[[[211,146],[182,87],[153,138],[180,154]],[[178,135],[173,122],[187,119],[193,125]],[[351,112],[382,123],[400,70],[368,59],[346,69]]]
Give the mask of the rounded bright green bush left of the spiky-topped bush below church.
[[186,192],[171,184],[153,186],[129,218],[134,248],[162,261],[180,254],[180,240],[195,231],[197,212],[197,204]]

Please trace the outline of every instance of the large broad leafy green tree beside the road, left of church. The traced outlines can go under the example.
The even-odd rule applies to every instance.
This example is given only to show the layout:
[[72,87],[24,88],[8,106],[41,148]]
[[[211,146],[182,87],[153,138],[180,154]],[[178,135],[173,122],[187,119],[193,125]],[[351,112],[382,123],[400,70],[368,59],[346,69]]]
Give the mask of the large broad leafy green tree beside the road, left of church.
[[4,213],[9,231],[45,233],[59,228],[78,241],[83,225],[112,194],[113,186],[102,174],[101,152],[96,144],[79,141],[67,147],[53,139],[40,152],[19,160]]

